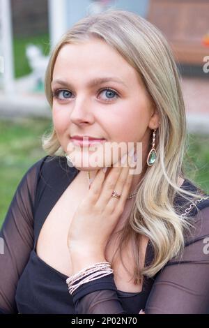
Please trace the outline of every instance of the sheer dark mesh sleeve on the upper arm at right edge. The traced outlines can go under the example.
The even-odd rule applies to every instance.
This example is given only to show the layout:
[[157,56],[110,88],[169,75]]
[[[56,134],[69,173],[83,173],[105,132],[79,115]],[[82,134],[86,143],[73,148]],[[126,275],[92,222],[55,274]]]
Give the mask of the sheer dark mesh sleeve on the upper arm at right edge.
[[209,204],[194,220],[195,236],[157,274],[145,313],[209,313]]

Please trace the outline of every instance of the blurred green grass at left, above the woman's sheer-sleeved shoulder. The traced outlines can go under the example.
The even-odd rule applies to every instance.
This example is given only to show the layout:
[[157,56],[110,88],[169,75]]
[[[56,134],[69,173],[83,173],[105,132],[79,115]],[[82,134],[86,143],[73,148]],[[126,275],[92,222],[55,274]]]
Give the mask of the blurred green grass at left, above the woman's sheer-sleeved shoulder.
[[50,127],[49,119],[0,121],[0,226],[23,175],[46,155],[41,137]]

